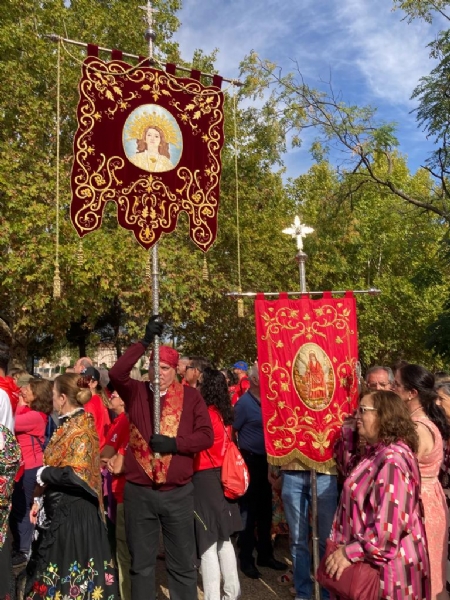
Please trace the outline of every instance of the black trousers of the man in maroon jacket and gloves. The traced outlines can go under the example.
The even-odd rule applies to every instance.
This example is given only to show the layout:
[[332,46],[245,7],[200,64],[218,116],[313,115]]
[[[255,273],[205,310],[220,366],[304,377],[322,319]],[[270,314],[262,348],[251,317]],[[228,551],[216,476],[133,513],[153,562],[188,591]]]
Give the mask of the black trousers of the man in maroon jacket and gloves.
[[160,528],[171,600],[197,600],[193,490],[192,483],[167,492],[126,483],[123,505],[131,554],[132,600],[156,599]]

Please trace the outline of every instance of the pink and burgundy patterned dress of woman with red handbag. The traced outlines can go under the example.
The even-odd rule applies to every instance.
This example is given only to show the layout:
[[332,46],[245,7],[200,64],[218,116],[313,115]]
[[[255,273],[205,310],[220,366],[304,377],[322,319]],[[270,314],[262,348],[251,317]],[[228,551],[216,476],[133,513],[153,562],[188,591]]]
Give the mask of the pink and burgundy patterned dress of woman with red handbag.
[[430,600],[417,459],[403,442],[378,443],[356,463],[355,441],[354,432],[343,428],[335,457],[346,461],[340,467],[347,477],[331,538],[345,544],[350,561],[380,569],[382,600]]

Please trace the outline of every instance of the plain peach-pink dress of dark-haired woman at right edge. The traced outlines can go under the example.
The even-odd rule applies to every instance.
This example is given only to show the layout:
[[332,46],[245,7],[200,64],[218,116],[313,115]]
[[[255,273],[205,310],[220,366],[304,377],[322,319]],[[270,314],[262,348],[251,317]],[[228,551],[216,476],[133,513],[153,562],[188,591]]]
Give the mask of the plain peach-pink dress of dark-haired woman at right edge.
[[448,598],[446,563],[448,545],[448,510],[444,490],[438,475],[444,455],[442,437],[436,425],[427,417],[413,416],[413,421],[427,427],[434,438],[430,454],[419,461],[422,476],[422,501],[425,509],[425,531],[431,566],[431,598]]

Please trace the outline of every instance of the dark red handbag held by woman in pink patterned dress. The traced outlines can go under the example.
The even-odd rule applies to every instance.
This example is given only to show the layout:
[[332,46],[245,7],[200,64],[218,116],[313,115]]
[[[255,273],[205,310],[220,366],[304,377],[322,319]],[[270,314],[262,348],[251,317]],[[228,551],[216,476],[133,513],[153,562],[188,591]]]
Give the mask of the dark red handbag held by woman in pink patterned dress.
[[352,563],[344,569],[338,581],[327,575],[325,561],[339,546],[333,540],[327,540],[316,574],[319,584],[341,600],[377,600],[380,597],[380,571],[368,562]]

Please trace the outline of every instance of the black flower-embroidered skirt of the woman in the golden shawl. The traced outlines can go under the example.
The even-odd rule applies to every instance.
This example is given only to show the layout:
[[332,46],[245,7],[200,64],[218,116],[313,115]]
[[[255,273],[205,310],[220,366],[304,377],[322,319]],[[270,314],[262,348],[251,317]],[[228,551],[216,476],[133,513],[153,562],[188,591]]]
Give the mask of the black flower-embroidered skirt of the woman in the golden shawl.
[[116,600],[117,572],[98,506],[63,497],[33,549],[25,600]]

